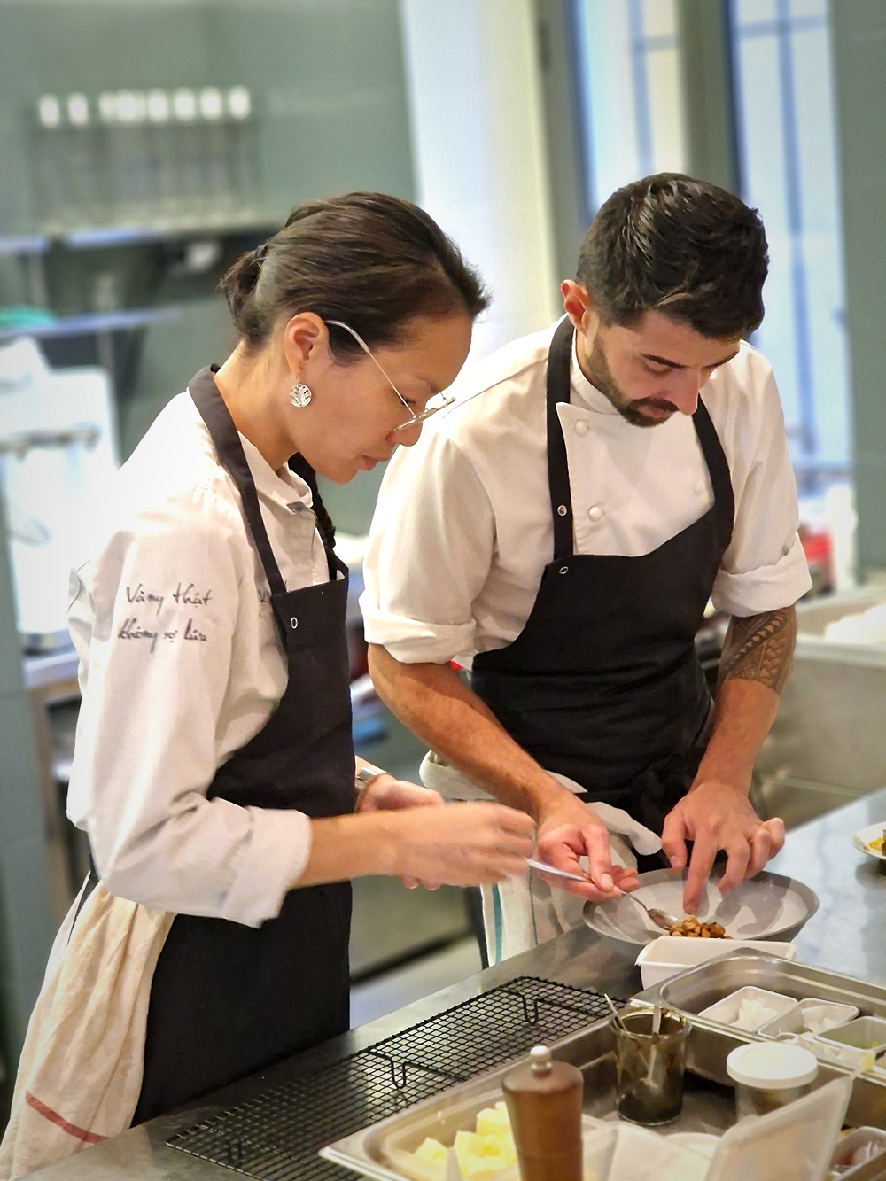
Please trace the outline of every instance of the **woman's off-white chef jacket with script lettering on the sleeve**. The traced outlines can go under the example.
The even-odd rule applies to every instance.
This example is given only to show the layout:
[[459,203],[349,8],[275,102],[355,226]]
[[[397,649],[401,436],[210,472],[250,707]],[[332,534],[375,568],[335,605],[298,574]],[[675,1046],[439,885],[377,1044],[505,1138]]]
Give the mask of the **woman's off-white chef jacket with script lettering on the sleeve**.
[[[307,484],[240,441],[287,589],[328,581]],[[304,870],[306,815],[207,800],[286,689],[269,595],[239,492],[182,393],[117,474],[71,582],[83,705],[67,808],[111,893],[259,926]]]

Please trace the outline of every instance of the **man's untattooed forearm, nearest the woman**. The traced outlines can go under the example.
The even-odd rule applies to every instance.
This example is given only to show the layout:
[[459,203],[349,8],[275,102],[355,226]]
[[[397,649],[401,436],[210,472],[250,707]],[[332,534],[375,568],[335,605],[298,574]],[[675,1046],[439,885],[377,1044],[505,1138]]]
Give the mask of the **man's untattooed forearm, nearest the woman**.
[[371,644],[369,668],[391,712],[502,803],[538,818],[541,804],[565,791],[514,742],[451,665],[402,664]]

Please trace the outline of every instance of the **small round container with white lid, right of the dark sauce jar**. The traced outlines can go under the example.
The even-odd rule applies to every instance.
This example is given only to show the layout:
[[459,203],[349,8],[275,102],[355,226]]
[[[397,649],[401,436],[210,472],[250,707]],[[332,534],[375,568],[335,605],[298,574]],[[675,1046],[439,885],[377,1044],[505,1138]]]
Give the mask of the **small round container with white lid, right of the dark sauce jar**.
[[808,1095],[819,1059],[801,1045],[756,1042],[740,1045],[727,1058],[735,1082],[736,1116],[766,1115]]

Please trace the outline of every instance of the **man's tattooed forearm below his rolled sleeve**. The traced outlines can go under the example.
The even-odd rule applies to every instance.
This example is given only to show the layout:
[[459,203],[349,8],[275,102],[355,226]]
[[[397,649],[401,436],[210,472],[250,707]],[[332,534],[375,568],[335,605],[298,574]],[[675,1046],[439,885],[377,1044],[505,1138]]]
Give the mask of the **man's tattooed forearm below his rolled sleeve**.
[[793,606],[732,619],[719,661],[714,727],[696,784],[718,779],[748,790],[778,712],[795,641]]

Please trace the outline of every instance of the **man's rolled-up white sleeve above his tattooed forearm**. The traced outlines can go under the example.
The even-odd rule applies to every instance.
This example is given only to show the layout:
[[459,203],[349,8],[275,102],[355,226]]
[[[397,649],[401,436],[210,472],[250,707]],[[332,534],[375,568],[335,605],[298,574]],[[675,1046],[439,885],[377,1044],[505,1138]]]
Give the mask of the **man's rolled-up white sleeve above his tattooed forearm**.
[[748,353],[753,398],[725,425],[734,433],[735,526],[711,596],[719,611],[740,616],[788,607],[812,587],[778,392],[768,363]]

